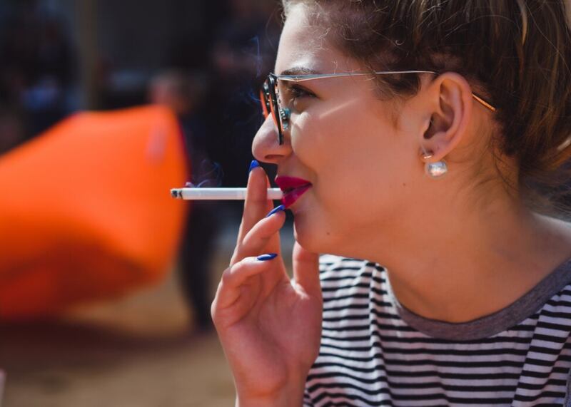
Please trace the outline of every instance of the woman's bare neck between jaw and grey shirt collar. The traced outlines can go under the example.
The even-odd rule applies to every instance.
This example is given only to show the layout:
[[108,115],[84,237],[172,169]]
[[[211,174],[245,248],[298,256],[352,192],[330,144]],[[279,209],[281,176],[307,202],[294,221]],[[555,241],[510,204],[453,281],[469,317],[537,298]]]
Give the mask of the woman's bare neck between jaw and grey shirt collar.
[[370,246],[387,250],[371,250],[365,258],[387,267],[401,304],[440,321],[471,321],[499,311],[571,257],[571,233],[562,222],[509,197],[480,211],[423,207],[389,230],[395,233]]

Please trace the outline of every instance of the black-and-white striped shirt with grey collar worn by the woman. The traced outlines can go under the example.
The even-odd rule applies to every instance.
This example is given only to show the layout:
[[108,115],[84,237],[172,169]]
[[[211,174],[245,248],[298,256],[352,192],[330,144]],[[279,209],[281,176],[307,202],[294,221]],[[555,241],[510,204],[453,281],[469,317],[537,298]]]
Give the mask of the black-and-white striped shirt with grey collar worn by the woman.
[[325,255],[320,279],[305,406],[571,407],[571,260],[514,304],[463,324],[405,309],[378,264]]

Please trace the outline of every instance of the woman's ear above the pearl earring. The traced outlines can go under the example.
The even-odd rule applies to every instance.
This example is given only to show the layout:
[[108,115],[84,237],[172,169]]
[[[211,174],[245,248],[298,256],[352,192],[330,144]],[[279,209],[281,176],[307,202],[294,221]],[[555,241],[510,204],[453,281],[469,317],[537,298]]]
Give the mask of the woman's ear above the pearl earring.
[[430,155],[426,162],[442,160],[460,143],[472,115],[472,89],[458,73],[448,72],[430,82],[421,153]]

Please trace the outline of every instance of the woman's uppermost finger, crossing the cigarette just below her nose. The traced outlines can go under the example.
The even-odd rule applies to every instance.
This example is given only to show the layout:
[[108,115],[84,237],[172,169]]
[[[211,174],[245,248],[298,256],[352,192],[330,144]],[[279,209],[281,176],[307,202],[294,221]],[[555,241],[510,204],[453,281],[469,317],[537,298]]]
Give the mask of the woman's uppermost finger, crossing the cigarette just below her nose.
[[273,205],[271,201],[268,201],[269,184],[268,176],[263,168],[257,167],[251,170],[248,176],[248,189],[240,231],[238,232],[238,242],[246,236],[258,220],[263,219],[271,210]]

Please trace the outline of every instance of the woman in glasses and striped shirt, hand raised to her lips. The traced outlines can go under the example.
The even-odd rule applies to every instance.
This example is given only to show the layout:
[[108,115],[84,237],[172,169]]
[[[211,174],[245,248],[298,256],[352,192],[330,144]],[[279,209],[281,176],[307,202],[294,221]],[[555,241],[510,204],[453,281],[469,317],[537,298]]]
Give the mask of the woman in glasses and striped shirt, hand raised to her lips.
[[284,8],[253,153],[293,279],[254,163],[212,306],[238,405],[568,403],[571,228],[530,187],[571,154],[562,1]]

